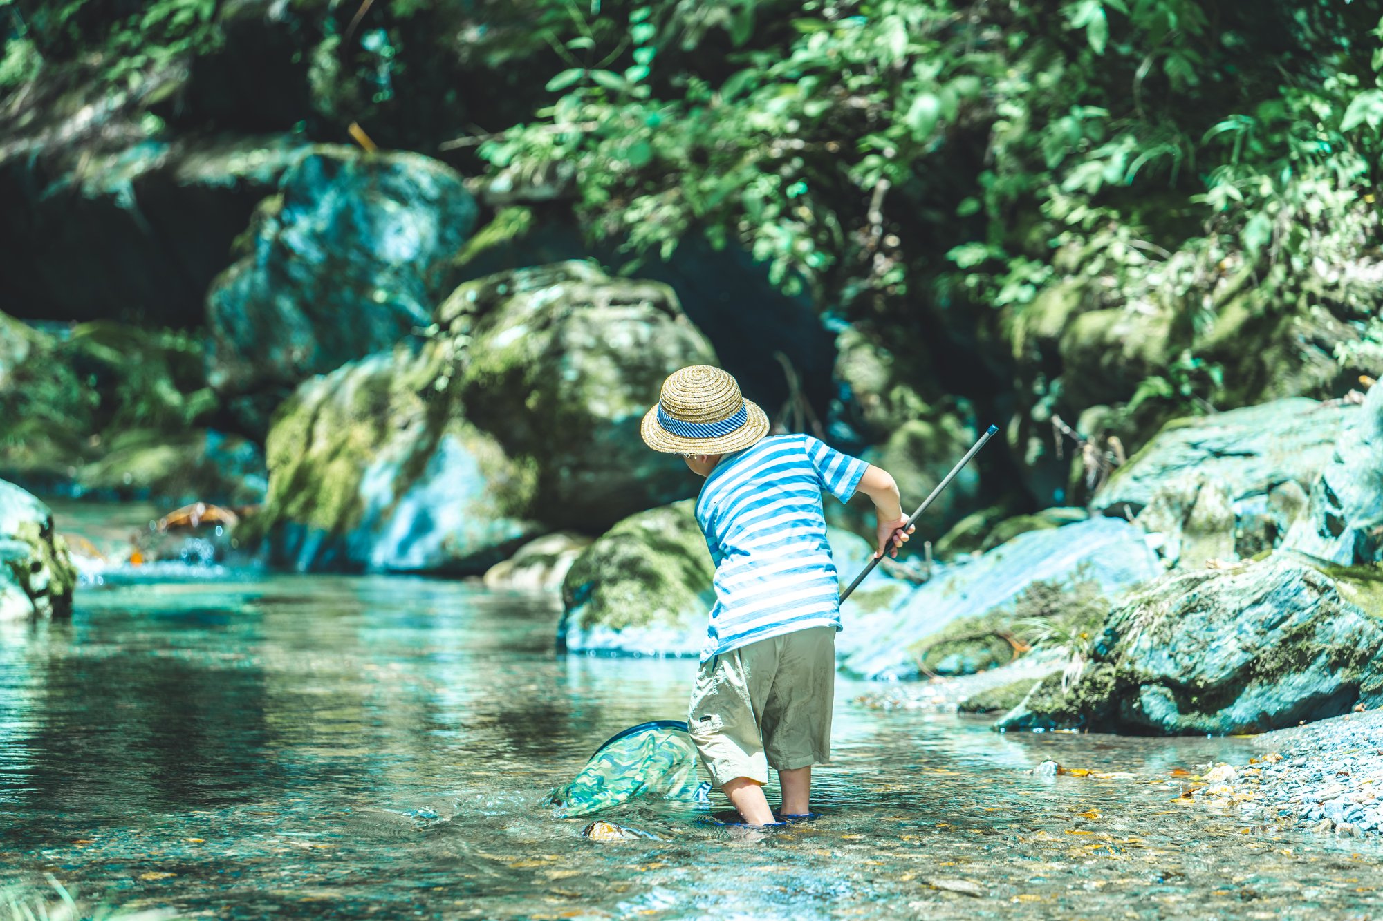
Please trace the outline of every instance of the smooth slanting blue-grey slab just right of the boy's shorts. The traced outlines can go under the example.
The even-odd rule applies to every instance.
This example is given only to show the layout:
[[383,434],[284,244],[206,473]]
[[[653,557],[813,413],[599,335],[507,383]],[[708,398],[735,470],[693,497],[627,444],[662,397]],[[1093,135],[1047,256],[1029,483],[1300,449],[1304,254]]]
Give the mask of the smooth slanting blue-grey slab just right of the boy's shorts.
[[[1047,621],[1044,629],[1052,635],[1088,629],[1093,611],[1111,606],[1105,599],[1162,573],[1144,538],[1126,521],[1098,517],[1029,531],[971,561],[939,566],[928,582],[898,596],[887,614],[857,628],[846,624],[837,640],[844,668],[891,679],[939,668],[964,673],[1003,664],[1029,644],[1023,636],[1032,631],[1015,629],[1019,621]],[[957,658],[943,665],[953,653]]]

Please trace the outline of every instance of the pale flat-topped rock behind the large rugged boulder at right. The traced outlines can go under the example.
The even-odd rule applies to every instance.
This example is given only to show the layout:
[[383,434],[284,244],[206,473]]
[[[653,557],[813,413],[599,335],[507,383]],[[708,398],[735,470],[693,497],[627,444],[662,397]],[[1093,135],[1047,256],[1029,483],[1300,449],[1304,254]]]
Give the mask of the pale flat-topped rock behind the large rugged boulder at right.
[[1178,419],[1115,473],[1093,509],[1135,514],[1162,535],[1169,566],[1261,555],[1286,537],[1359,412],[1293,398]]

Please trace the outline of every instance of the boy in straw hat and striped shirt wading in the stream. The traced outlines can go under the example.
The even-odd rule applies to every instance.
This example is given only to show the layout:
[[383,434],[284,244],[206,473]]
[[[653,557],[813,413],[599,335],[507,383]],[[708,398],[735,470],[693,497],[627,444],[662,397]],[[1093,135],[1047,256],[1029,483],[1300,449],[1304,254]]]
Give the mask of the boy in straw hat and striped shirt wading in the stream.
[[874,556],[898,556],[909,537],[893,477],[810,436],[768,430],[734,378],[708,365],[669,376],[642,426],[650,448],[705,477],[696,517],[716,602],[687,725],[712,783],[751,826],[781,824],[763,797],[769,768],[781,819],[801,820],[812,765],[830,762],[841,610],[822,490],[874,501]]

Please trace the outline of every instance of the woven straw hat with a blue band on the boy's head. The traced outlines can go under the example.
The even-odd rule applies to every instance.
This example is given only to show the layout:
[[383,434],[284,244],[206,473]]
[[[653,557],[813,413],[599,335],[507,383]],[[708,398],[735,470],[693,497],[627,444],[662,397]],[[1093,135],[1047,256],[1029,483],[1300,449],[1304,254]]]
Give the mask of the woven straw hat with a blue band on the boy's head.
[[769,431],[769,418],[740,396],[734,378],[709,365],[683,368],[662,382],[640,433],[664,454],[730,454]]

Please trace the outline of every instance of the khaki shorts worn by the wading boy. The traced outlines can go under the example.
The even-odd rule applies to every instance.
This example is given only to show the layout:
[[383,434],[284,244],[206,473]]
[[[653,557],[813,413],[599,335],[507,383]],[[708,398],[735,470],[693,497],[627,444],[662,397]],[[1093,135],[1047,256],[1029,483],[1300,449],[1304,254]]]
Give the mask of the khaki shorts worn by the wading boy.
[[687,726],[716,787],[766,784],[769,768],[830,763],[834,700],[835,628],[809,626],[703,662]]

